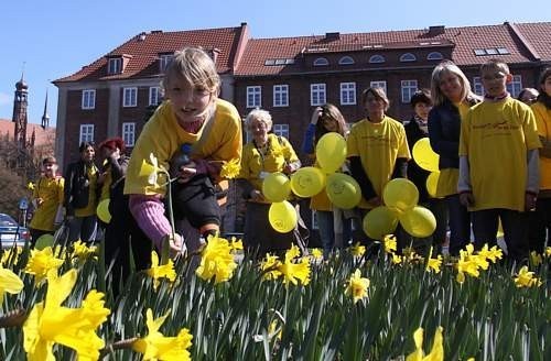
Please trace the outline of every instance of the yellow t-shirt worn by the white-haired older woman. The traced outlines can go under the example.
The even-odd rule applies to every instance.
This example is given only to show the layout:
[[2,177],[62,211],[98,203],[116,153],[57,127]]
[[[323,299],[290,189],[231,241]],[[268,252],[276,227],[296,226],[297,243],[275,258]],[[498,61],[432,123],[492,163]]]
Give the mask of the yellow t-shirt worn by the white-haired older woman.
[[282,172],[285,163],[299,161],[293,146],[285,138],[268,134],[267,144],[263,153],[257,149],[255,142],[247,143],[242,149],[238,178],[249,180],[257,190],[262,190],[263,175]]

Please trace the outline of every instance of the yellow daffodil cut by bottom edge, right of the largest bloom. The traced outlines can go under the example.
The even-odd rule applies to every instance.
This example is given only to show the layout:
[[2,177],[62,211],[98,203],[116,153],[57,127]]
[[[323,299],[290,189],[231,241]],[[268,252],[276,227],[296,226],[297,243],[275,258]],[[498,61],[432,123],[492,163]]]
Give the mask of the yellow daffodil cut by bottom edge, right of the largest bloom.
[[169,316],[170,310],[158,319],[153,319],[153,311],[145,311],[148,335],[132,343],[132,349],[143,354],[143,360],[186,361],[191,360],[190,347],[193,336],[186,328],[182,328],[176,337],[165,337],[159,332]]

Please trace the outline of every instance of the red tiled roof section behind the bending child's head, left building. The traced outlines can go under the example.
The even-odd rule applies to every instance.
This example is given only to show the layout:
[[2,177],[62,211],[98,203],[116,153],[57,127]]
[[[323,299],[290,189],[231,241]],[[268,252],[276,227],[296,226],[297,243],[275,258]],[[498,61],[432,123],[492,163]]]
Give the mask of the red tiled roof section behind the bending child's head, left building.
[[[127,79],[156,76],[159,72],[159,54],[174,53],[184,46],[202,46],[207,51],[219,50],[216,66],[219,74],[233,68],[236,46],[246,24],[238,28],[220,28],[191,30],[179,32],[152,31],[133,36],[90,65],[84,66],[75,74],[57,79],[54,83]],[[141,36],[140,36],[141,35]],[[128,56],[125,72],[107,75],[107,58],[110,56]]]

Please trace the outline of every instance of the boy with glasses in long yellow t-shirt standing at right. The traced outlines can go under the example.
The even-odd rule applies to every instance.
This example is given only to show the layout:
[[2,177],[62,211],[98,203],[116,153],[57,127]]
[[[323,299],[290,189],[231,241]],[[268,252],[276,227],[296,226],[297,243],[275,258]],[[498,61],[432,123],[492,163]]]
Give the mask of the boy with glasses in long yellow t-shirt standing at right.
[[490,59],[480,76],[484,101],[461,127],[460,199],[473,211],[475,248],[496,244],[501,219],[508,256],[521,261],[528,256],[526,211],[536,206],[541,143],[531,109],[507,92],[507,64]]

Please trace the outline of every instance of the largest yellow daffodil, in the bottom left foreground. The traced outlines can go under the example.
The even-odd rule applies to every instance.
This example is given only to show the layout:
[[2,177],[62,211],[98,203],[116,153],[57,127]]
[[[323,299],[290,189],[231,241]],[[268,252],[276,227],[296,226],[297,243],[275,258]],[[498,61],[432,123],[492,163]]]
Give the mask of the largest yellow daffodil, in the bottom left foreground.
[[83,300],[80,308],[63,307],[75,285],[76,270],[57,277],[55,271],[47,275],[45,302],[34,304],[23,325],[23,347],[30,361],[54,361],[54,343],[76,351],[79,360],[97,360],[105,342],[95,332],[109,315],[104,307],[104,294],[96,291]]

